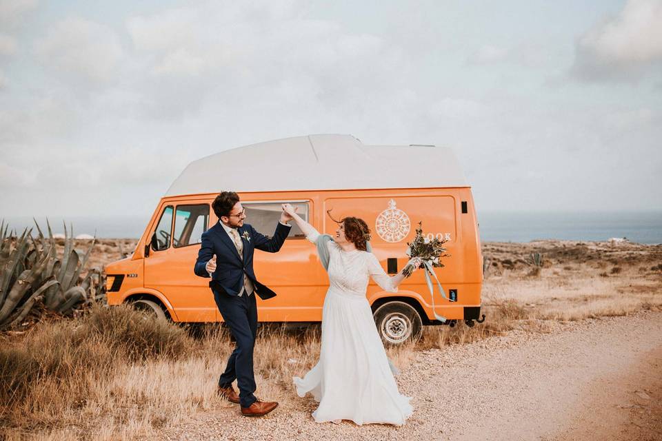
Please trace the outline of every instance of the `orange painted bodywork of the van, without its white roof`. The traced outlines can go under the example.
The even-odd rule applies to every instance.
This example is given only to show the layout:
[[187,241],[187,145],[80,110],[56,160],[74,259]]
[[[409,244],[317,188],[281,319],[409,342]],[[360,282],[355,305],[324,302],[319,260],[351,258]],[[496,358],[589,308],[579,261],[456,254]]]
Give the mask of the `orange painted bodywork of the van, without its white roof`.
[[[155,251],[144,256],[146,245],[159,224],[165,207],[174,210],[179,205],[210,205],[218,193],[168,196],[161,198],[150,223],[143,233],[132,257],[133,262],[143,261],[144,276],[136,280],[141,286],[160,294],[168,306],[172,318],[181,322],[222,321],[208,287],[208,278],[193,273],[199,244],[174,247]],[[445,238],[450,256],[442,259],[445,267],[435,268],[446,294],[450,289],[457,292],[457,301],[442,298],[434,283],[434,305],[437,314],[449,320],[461,320],[464,307],[481,305],[482,256],[477,220],[470,187],[420,188],[420,189],[359,189],[287,192],[244,192],[240,193],[243,205],[250,203],[283,203],[304,201],[308,205],[308,221],[321,233],[334,236],[337,224],[330,218],[345,216],[363,218],[372,232],[372,252],[382,267],[387,270],[388,259],[395,259],[397,269],[402,269],[409,257],[405,251],[412,240],[419,221],[423,222],[423,233],[429,237]],[[461,203],[466,202],[468,212],[461,212]],[[330,216],[327,210],[330,211]],[[400,218],[392,218],[392,215]],[[397,220],[401,225],[387,225]],[[218,219],[210,210],[208,229]],[[386,222],[386,223],[385,223]],[[174,225],[174,220],[172,221]],[[251,223],[246,218],[245,223]],[[397,222],[396,222],[397,223]],[[275,222],[273,225],[275,229]],[[273,231],[260,231],[272,235]],[[116,271],[115,264],[107,272]],[[269,300],[257,298],[258,320],[263,322],[317,322],[321,320],[324,296],[328,289],[328,275],[319,263],[315,246],[305,238],[288,237],[278,253],[257,250],[254,256],[257,279],[273,289],[278,295]],[[134,287],[132,287],[132,291]],[[121,288],[124,293],[125,287]],[[403,281],[397,294],[384,292],[370,280],[367,298],[370,304],[379,298],[407,296],[419,302],[429,320],[434,320],[432,298],[425,283],[423,271]],[[110,296],[109,303],[117,304],[117,294]],[[123,296],[126,298],[126,295]]]

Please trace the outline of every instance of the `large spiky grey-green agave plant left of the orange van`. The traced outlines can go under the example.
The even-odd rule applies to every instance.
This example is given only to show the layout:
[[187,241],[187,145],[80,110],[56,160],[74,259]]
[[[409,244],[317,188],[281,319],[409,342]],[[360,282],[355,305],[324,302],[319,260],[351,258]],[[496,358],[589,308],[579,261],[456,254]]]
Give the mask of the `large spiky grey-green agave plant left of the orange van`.
[[58,257],[48,220],[48,239],[36,220],[35,225],[37,238],[32,237],[32,229],[25,229],[20,237],[8,234],[8,225],[0,223],[0,329],[19,325],[37,304],[70,314],[101,295],[101,271],[91,269],[81,278],[96,238],[81,257],[73,246],[73,227],[68,235],[65,224],[64,251]]

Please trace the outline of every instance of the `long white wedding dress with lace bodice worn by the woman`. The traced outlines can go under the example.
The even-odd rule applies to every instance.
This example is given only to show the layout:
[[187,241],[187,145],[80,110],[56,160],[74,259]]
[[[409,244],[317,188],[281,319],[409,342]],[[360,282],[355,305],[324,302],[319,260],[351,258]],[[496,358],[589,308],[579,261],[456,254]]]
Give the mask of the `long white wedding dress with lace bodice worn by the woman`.
[[[316,233],[308,240],[317,238]],[[365,298],[370,276],[386,291],[397,292],[397,287],[374,254],[345,252],[333,240],[327,246],[330,286],[322,309],[321,352],[303,379],[292,378],[297,393],[310,392],[319,402],[312,413],[317,422],[404,424],[413,411],[411,398],[398,391]]]

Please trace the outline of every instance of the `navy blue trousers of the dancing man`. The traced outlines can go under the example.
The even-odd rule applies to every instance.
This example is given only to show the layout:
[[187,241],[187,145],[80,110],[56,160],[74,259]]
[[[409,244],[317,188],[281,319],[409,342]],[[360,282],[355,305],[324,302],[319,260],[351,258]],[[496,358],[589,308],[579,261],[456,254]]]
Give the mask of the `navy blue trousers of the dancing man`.
[[219,378],[220,387],[228,387],[237,379],[241,407],[249,407],[257,398],[255,391],[255,376],[253,374],[253,347],[257,334],[257,304],[255,293],[250,296],[229,296],[223,291],[214,292],[214,300],[221,312],[225,325],[230,328],[230,334],[237,342],[234,351],[228,358],[225,372]]

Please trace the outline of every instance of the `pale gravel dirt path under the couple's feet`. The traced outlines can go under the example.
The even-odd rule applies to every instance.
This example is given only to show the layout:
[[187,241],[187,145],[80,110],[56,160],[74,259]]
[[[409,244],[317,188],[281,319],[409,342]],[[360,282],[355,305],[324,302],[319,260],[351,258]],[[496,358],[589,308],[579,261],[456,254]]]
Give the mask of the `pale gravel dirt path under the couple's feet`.
[[[514,331],[419,353],[398,378],[414,397],[403,427],[317,424],[294,394],[265,418],[237,407],[194,416],[168,439],[659,440],[662,313]],[[422,438],[421,438],[422,437]]]

